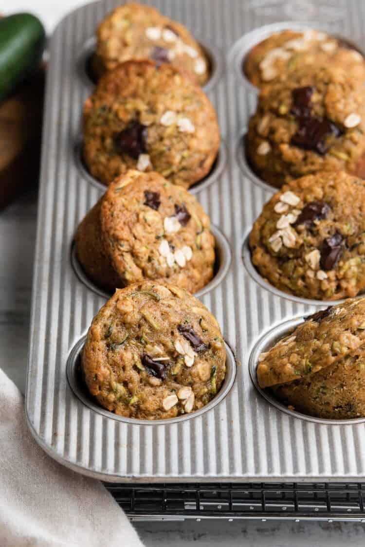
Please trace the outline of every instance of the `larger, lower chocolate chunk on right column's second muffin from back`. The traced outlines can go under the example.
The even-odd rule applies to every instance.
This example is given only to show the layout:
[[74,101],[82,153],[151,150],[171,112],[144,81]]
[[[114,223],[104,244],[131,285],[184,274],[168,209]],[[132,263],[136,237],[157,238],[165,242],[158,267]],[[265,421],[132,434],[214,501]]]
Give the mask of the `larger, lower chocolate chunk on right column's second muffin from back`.
[[312,150],[317,154],[326,154],[331,146],[329,137],[339,137],[341,130],[327,118],[300,118],[298,131],[291,138],[291,144]]

